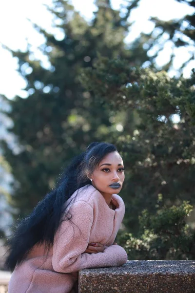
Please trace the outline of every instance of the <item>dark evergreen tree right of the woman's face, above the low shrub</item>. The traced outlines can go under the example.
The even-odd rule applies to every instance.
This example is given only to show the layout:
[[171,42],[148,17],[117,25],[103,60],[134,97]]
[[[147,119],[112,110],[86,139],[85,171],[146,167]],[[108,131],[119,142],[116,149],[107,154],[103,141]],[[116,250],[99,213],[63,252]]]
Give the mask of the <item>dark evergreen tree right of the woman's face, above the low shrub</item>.
[[[190,79],[170,78],[126,60],[100,58],[80,80],[95,100],[109,104],[111,114],[118,112],[120,132],[109,137],[126,167],[121,191],[126,228],[137,235],[143,209],[155,214],[162,205],[195,204],[195,73]],[[134,128],[129,124],[133,113]],[[156,207],[159,196],[163,202]]]

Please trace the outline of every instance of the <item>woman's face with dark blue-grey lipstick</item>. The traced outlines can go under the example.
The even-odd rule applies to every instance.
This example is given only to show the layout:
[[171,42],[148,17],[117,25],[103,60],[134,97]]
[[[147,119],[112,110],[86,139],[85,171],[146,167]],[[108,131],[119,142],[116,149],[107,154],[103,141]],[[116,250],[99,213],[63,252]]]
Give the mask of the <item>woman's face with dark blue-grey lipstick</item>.
[[124,165],[117,151],[107,154],[94,170],[90,178],[92,185],[101,193],[118,193],[125,179]]

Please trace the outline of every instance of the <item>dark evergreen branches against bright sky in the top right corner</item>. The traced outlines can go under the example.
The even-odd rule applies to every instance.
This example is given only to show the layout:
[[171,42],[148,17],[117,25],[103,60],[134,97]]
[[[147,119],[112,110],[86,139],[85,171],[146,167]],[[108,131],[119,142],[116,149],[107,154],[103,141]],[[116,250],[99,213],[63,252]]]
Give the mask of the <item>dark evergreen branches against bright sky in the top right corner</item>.
[[[181,4],[186,4],[191,9],[195,8],[194,0],[177,0]],[[194,9],[195,12],[195,9]],[[176,57],[176,48],[186,48],[186,61],[181,65],[178,72],[192,60],[195,59],[194,46],[195,46],[195,13],[185,15],[180,19],[173,19],[170,21],[162,21],[156,17],[151,17],[150,20],[154,23],[155,27],[150,34],[141,34],[142,42],[147,48],[150,61],[157,70],[166,70],[173,68],[174,59]],[[172,43],[172,53],[168,63],[164,64],[161,68],[156,66],[156,57],[164,49],[165,43]]]

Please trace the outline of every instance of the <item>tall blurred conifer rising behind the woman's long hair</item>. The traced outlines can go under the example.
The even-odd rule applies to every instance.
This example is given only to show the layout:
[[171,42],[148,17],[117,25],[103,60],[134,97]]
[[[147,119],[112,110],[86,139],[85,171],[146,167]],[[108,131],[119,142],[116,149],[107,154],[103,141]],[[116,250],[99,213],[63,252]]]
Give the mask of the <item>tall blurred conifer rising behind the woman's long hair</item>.
[[50,11],[64,33],[63,40],[35,25],[45,38],[40,49],[50,68],[35,60],[30,45],[26,52],[12,52],[19,60],[29,97],[10,101],[14,123],[10,132],[17,136],[20,151],[14,153],[6,142],[2,146],[15,178],[11,204],[21,217],[53,187],[63,164],[90,142],[108,141],[110,131],[116,131],[109,107],[83,90],[79,74],[99,55],[126,58],[137,65],[148,59],[139,42],[132,47],[124,43],[131,26],[127,18],[137,3],[131,1],[120,16],[108,0],[97,1],[98,11],[89,24],[67,1],[56,0]]

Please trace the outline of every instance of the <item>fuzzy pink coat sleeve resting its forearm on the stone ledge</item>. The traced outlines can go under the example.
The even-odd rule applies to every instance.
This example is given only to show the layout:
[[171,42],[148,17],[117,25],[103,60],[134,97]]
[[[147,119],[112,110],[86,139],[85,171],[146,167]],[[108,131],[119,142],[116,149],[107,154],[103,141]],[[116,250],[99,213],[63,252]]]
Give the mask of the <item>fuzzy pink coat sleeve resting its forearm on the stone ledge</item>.
[[93,224],[93,208],[84,201],[78,201],[71,207],[71,213],[74,224],[63,221],[54,238],[52,265],[56,272],[114,267],[127,262],[127,253],[119,245],[111,245],[103,252],[85,253]]

